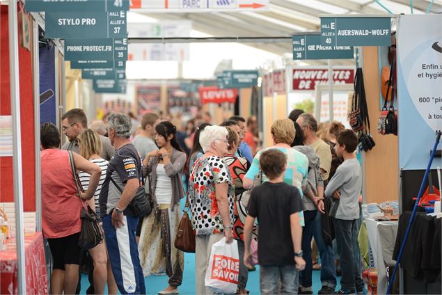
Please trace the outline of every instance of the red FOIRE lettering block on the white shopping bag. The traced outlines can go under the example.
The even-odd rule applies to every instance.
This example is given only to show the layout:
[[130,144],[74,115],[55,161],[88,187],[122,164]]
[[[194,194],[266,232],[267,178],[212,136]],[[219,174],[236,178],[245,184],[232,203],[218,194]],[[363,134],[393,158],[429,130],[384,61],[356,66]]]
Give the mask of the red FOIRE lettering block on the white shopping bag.
[[212,279],[238,283],[239,260],[224,255],[214,255]]

